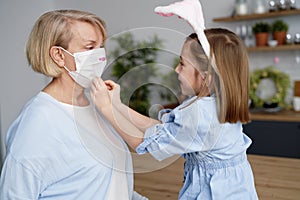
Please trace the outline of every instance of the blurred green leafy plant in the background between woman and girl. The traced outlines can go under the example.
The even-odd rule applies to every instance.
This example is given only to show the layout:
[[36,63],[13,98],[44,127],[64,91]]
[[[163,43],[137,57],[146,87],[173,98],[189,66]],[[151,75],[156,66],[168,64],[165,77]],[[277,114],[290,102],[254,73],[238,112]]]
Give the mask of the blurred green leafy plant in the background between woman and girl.
[[116,47],[110,52],[111,76],[122,85],[121,99],[134,110],[149,115],[151,77],[156,76],[156,59],[162,40],[154,35],[149,40],[135,40],[132,33],[111,38]]

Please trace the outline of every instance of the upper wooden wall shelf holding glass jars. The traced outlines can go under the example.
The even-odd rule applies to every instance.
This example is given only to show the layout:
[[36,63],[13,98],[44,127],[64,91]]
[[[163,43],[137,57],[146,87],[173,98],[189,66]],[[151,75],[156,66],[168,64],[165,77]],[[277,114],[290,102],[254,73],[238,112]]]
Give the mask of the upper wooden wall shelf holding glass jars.
[[252,19],[264,19],[264,18],[271,18],[271,17],[298,15],[298,14],[300,14],[300,9],[268,12],[268,13],[263,13],[263,14],[250,14],[250,15],[241,15],[241,16],[232,16],[232,17],[220,17],[220,18],[213,19],[213,21],[214,22],[234,22],[234,21],[243,21],[243,20],[252,20]]

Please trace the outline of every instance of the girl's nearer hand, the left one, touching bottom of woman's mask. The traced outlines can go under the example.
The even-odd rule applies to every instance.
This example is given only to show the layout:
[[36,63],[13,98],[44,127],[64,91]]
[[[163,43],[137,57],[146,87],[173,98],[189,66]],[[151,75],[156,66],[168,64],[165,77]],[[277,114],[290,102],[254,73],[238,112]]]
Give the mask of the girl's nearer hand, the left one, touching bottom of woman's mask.
[[95,78],[91,84],[90,95],[96,107],[101,111],[104,108],[111,108],[112,101],[110,91],[112,84],[105,84],[101,78]]

